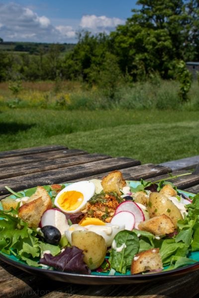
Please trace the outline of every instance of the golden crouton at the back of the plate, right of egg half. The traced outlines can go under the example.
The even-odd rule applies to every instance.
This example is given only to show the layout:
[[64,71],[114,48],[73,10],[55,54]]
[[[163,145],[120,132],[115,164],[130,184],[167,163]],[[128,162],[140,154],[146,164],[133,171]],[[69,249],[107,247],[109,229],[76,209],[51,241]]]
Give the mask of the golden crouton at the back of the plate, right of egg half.
[[101,186],[104,192],[115,191],[118,195],[121,195],[120,189],[126,186],[126,182],[123,179],[122,173],[116,170],[103,177]]

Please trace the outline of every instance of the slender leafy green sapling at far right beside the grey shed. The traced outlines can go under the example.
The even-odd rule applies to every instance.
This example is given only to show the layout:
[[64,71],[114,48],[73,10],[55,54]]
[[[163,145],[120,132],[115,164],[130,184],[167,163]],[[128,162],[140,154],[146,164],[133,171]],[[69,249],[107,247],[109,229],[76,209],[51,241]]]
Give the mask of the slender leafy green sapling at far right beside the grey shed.
[[182,102],[186,102],[189,100],[188,92],[192,84],[192,75],[186,68],[186,64],[184,61],[180,61],[177,64],[177,78],[180,81],[180,99]]

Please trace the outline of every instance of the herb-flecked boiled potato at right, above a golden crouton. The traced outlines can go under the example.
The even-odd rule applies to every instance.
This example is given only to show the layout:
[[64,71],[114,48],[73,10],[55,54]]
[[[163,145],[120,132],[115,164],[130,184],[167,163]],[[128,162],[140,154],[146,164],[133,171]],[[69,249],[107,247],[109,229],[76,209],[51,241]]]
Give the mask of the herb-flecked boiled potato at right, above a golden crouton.
[[148,203],[148,212],[149,217],[153,218],[155,216],[159,216],[162,214],[167,215],[172,220],[175,228],[177,228],[178,220],[182,220],[182,214],[178,207],[169,200],[166,196],[158,193],[152,192],[149,195],[149,203]]

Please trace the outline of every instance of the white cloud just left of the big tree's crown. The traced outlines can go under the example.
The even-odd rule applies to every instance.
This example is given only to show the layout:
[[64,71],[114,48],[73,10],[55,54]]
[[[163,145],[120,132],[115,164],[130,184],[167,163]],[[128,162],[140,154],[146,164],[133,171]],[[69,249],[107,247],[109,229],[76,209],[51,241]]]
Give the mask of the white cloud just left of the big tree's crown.
[[123,24],[124,21],[113,17],[109,18],[105,15],[96,16],[95,14],[92,15],[84,15],[81,19],[80,26],[84,29],[90,29],[94,32],[109,32],[113,30],[117,25]]

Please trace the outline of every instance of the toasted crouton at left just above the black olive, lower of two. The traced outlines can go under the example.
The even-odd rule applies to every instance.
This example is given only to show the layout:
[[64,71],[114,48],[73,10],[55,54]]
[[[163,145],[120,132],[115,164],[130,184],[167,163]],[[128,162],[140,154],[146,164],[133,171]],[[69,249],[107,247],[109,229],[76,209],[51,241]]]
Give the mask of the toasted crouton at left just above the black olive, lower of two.
[[18,217],[27,222],[29,227],[38,227],[45,210],[42,198],[37,198],[22,205],[18,210]]

